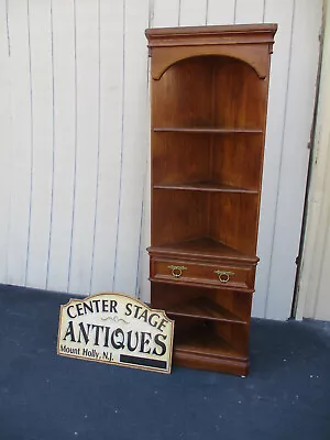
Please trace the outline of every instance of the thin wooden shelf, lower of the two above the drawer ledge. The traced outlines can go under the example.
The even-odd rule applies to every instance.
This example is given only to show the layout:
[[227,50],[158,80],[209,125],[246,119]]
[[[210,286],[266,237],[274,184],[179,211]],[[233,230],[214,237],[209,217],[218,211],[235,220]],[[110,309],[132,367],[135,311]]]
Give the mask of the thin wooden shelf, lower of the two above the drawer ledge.
[[154,185],[154,189],[179,189],[184,191],[209,191],[209,193],[235,193],[235,194],[258,194],[255,189],[239,188],[226,184],[212,182],[196,182],[191,184],[163,184]]

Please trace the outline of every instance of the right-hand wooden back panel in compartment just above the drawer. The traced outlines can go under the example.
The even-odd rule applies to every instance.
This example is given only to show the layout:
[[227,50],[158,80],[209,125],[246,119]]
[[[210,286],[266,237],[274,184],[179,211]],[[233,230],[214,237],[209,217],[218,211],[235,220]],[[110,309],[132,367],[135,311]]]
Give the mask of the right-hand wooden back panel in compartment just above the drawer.
[[255,255],[258,196],[210,195],[210,237],[248,255]]

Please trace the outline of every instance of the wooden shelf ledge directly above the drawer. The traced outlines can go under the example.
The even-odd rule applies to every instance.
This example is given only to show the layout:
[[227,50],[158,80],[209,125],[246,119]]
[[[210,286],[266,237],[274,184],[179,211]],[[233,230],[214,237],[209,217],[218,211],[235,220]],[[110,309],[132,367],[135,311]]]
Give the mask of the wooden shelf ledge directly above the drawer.
[[226,244],[209,238],[183,241],[179,243],[163,244],[148,248],[151,253],[164,253],[175,256],[199,256],[199,257],[219,257],[221,260],[241,260],[249,263],[257,263],[258,257],[254,255],[244,255],[241,252],[227,246]]

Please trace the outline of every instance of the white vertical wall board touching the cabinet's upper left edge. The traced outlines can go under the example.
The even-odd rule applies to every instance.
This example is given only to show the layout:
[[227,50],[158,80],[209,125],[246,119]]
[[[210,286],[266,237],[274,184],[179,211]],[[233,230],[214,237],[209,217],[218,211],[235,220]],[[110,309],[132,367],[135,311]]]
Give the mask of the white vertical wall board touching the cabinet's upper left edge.
[[147,154],[146,66],[144,29],[148,1],[127,0],[123,167],[114,290],[134,295],[141,228],[141,199]]

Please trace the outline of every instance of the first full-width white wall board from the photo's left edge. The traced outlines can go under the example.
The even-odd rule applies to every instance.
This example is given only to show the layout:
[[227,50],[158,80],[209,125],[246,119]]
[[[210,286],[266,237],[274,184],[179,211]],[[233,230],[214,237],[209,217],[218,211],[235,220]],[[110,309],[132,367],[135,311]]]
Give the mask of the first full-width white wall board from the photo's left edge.
[[31,185],[31,90],[28,2],[9,1],[11,55],[12,188],[8,242],[9,284],[24,285]]

